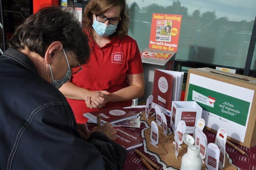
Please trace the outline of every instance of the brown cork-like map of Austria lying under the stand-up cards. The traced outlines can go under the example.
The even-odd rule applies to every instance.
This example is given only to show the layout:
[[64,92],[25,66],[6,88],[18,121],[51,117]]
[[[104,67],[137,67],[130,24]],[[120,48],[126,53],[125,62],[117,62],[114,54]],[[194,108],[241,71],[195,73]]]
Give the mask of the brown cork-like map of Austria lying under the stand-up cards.
[[[173,142],[174,140],[174,133],[170,134],[170,130],[168,128],[168,133],[167,133],[167,138],[163,133],[163,127],[158,126],[158,131],[159,131],[159,143],[156,145],[158,148],[153,146],[150,143],[150,133],[151,133],[151,121],[155,121],[156,117],[153,116],[153,113],[150,112],[148,116],[148,120],[145,117],[145,111],[140,113],[140,120],[145,123],[146,127],[142,130],[141,134],[142,137],[145,138],[143,140],[144,142],[144,150],[146,153],[149,153],[150,155],[153,155],[157,158],[157,162],[161,163],[163,165],[164,169],[167,170],[180,170],[181,166],[181,159],[182,156],[187,153],[187,147],[185,143],[181,144],[180,146],[182,148],[179,148],[179,155],[178,155],[178,160],[176,159],[175,156],[175,147]],[[204,159],[205,161],[205,159]],[[225,159],[225,167],[222,168],[223,170],[238,170],[239,168],[234,166],[232,161],[229,159],[228,154],[226,153],[226,159]],[[202,170],[207,170],[207,166],[203,164]]]

